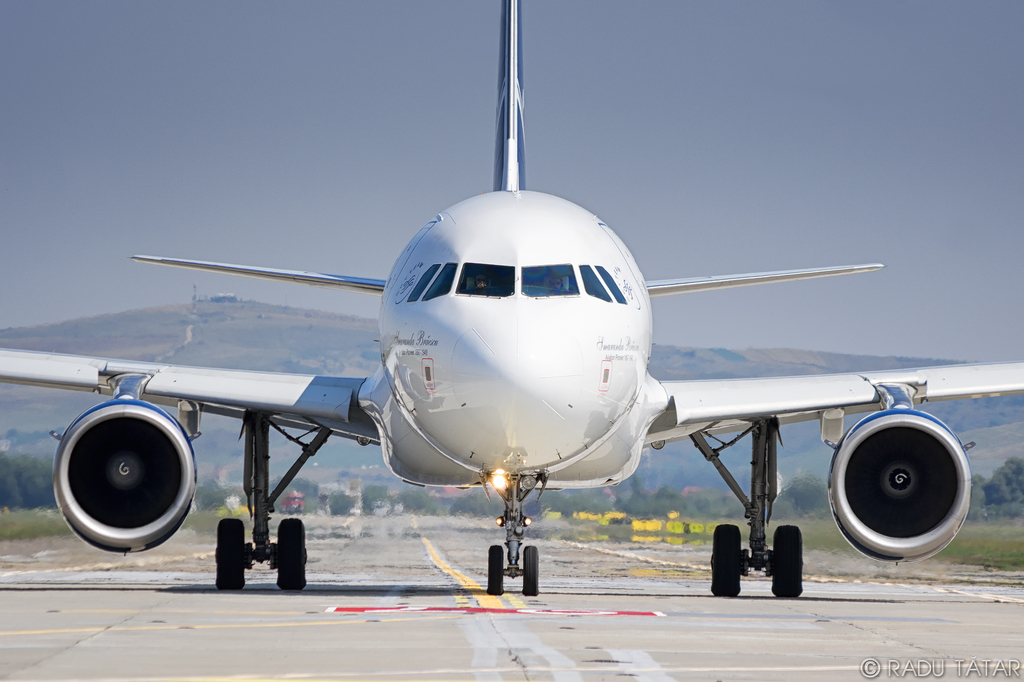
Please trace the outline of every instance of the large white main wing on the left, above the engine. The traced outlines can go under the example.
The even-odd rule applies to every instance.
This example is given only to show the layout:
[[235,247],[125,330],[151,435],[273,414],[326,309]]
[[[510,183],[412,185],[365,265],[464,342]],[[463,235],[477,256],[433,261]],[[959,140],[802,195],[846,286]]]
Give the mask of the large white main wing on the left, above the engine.
[[356,399],[364,378],[211,370],[0,350],[0,382],[4,383],[112,395],[129,379],[140,386],[140,399],[158,404],[194,402],[203,406],[204,412],[227,417],[260,412],[282,424],[326,426],[350,438],[378,440],[376,427]]

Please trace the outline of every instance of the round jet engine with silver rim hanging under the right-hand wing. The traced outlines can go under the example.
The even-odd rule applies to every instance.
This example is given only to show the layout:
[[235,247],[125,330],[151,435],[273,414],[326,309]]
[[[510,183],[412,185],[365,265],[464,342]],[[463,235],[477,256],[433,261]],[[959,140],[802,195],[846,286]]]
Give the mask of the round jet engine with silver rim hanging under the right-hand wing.
[[843,437],[828,474],[833,516],[863,554],[916,561],[952,541],[971,507],[971,464],[959,438],[907,409],[865,417]]

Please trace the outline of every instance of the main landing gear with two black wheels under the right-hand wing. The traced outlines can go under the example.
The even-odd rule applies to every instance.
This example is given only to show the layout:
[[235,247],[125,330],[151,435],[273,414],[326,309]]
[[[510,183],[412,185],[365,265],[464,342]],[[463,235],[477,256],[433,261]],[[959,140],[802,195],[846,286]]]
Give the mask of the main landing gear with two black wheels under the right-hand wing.
[[[751,497],[743,494],[739,483],[718,459],[719,454],[735,444],[748,433],[753,434],[751,457]],[[800,528],[780,525],[775,529],[773,549],[768,549],[766,529],[771,519],[771,507],[778,495],[776,473],[776,443],[778,420],[756,422],[729,442],[712,447],[703,433],[690,435],[705,459],[715,465],[733,495],[743,504],[744,516],[751,526],[750,549],[740,549],[739,528],[723,524],[715,528],[711,554],[711,591],[716,597],[735,597],[739,594],[740,576],[752,570],[763,570],[771,578],[771,591],[776,597],[799,597],[804,591],[804,550]]]

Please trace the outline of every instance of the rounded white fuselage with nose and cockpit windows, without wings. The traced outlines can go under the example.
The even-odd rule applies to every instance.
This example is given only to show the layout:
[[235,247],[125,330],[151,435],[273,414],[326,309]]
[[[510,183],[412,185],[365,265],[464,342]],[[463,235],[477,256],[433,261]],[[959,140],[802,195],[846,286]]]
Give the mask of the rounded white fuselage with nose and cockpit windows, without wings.
[[380,334],[381,369],[359,399],[410,482],[470,485],[496,469],[546,472],[554,487],[617,482],[665,409],[636,262],[551,195],[481,195],[425,225],[388,276]]

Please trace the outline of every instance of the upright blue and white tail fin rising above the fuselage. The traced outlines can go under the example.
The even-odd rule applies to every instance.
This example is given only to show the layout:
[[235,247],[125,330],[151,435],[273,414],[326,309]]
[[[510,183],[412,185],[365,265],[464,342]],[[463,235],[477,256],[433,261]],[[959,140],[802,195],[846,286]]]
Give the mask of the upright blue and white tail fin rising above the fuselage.
[[522,34],[520,0],[503,0],[498,56],[498,123],[495,132],[495,191],[525,187],[526,147],[522,133]]

